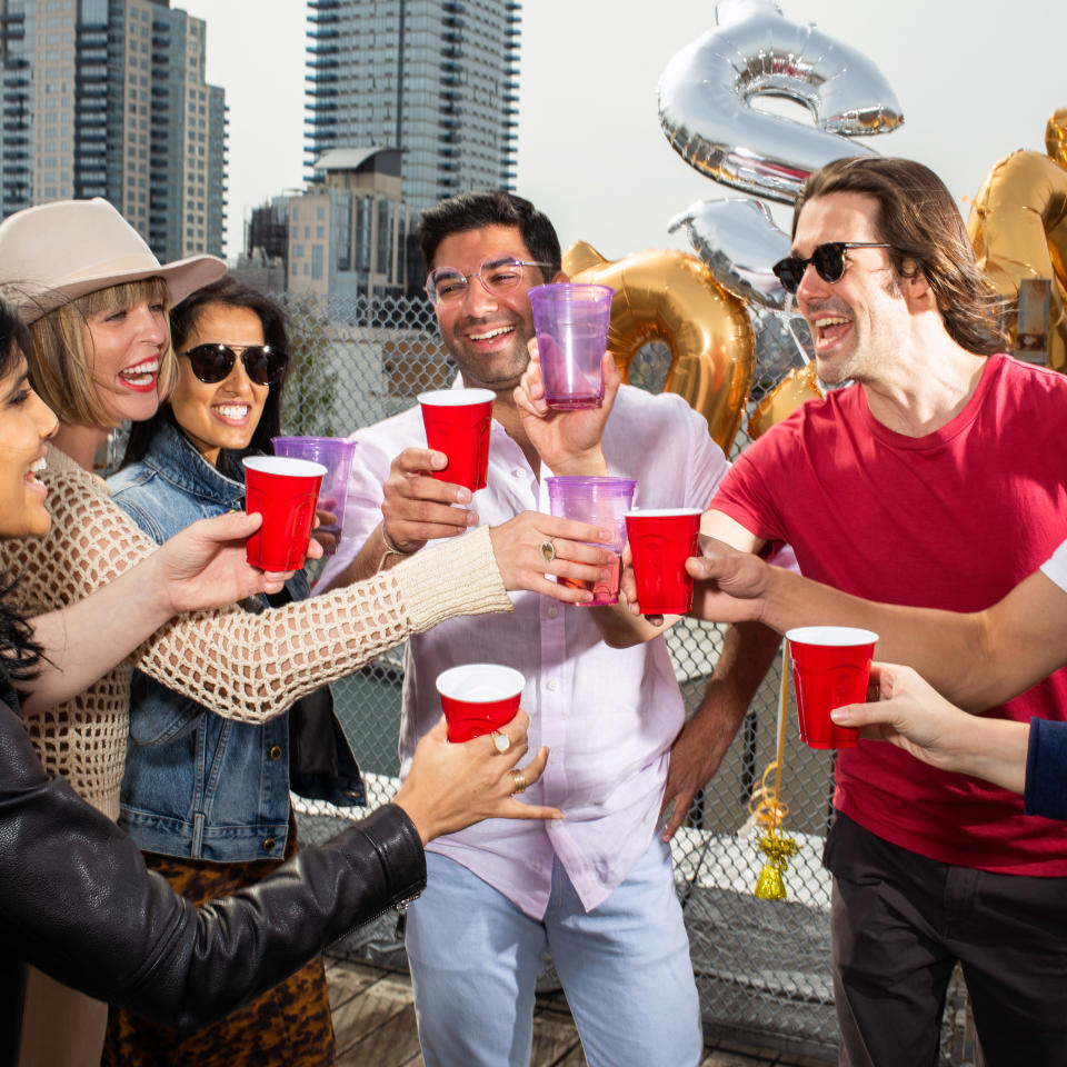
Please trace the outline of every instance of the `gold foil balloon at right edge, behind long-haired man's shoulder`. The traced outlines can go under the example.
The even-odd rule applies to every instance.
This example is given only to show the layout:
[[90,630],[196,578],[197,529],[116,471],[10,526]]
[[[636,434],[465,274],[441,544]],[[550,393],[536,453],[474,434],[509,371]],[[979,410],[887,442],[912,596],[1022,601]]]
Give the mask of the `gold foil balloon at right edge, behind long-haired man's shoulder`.
[[[1013,152],[986,176],[967,220],[978,262],[1008,301],[1017,337],[1020,282],[1050,282],[1048,366],[1067,370],[1067,109],[1046,128],[1049,156]],[[1051,157],[1051,158],[1050,158]]]

